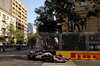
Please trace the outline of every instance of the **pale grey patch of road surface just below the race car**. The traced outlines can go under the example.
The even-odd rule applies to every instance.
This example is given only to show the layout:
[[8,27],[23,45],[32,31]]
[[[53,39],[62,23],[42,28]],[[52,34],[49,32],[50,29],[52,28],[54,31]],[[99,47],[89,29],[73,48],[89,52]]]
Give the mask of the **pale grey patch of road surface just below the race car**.
[[42,64],[42,66],[77,66],[77,65],[75,65],[74,62],[69,60],[66,63],[49,63],[49,62],[44,62]]

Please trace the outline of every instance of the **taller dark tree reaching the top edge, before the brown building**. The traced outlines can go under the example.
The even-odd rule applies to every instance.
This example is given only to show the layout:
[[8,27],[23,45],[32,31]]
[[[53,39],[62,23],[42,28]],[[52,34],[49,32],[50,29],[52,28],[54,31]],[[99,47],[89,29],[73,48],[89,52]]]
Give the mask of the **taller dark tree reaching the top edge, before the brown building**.
[[[77,0],[80,1],[80,0]],[[68,32],[73,32],[74,28],[69,25],[69,21],[74,22],[74,25],[78,27],[80,32],[80,24],[82,23],[82,17],[74,11],[75,1],[72,0],[46,0],[45,5],[47,7],[47,13],[49,16],[56,16],[57,22],[61,22],[62,25],[68,28]],[[51,6],[52,5],[52,6]],[[51,16],[52,17],[52,16]],[[68,22],[66,22],[66,17]],[[64,24],[63,24],[64,23]]]

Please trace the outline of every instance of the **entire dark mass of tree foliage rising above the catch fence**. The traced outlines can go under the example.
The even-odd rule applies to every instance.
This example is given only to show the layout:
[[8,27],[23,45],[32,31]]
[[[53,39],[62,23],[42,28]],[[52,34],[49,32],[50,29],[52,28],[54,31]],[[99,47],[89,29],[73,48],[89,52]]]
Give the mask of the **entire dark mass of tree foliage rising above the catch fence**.
[[[77,0],[77,2],[80,1],[81,0]],[[35,21],[38,31],[55,32],[57,29],[56,22],[62,22],[66,24],[65,26],[69,32],[69,21],[74,21],[75,26],[78,27],[78,31],[80,32],[79,26],[83,24],[83,22],[81,22],[82,17],[77,15],[73,5],[72,0],[46,0],[45,6],[35,9],[35,12],[39,15]],[[56,21],[54,17],[56,17]],[[68,17],[68,22],[65,20],[66,17]],[[71,29],[71,31],[73,31],[73,29]]]

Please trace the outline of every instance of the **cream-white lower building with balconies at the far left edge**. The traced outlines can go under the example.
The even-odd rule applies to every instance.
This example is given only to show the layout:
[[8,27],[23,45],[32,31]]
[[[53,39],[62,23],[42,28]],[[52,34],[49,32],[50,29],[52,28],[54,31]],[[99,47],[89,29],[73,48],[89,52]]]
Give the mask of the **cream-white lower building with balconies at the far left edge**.
[[[0,36],[8,37],[9,31],[7,28],[11,25],[13,25],[14,29],[16,30],[16,18],[6,11],[0,9]],[[8,38],[6,38],[6,41],[8,41]]]

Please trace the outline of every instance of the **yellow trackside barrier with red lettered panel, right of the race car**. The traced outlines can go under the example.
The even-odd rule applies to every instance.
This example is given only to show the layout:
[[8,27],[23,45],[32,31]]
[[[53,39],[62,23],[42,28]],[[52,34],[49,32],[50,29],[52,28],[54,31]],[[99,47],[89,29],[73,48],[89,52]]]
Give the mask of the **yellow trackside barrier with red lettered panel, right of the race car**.
[[56,51],[56,55],[62,54],[64,57],[70,59],[90,59],[100,60],[100,52],[96,51]]

